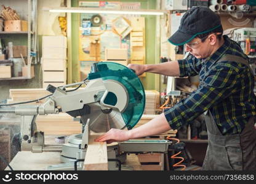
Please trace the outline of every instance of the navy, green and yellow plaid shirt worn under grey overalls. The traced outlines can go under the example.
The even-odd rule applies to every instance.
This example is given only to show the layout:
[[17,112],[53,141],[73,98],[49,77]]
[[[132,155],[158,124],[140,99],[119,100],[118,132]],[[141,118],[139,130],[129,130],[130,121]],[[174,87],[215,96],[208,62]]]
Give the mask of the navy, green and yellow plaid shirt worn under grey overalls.
[[236,42],[223,37],[225,43],[208,58],[197,59],[190,55],[178,60],[180,77],[199,75],[200,84],[188,98],[165,110],[172,129],[179,129],[210,110],[223,135],[237,134],[256,114],[254,76],[250,69],[235,61],[217,62],[226,54],[248,59]]

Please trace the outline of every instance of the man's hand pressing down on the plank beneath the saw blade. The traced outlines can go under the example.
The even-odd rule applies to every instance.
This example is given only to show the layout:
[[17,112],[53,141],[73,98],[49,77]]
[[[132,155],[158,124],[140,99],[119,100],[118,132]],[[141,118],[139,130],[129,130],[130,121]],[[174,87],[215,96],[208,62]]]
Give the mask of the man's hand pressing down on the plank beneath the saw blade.
[[127,130],[121,130],[121,129],[110,129],[110,131],[106,132],[106,134],[103,134],[102,136],[95,139],[95,142],[104,142],[106,141],[107,144],[110,144],[112,142],[122,142],[124,140],[130,139],[130,133]]

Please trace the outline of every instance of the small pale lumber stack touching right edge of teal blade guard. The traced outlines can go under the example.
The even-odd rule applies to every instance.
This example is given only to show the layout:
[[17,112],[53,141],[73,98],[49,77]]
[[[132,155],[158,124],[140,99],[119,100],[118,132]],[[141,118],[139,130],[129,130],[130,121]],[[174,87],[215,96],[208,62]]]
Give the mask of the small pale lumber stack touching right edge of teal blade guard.
[[160,93],[156,90],[145,90],[145,114],[155,114],[160,105]]

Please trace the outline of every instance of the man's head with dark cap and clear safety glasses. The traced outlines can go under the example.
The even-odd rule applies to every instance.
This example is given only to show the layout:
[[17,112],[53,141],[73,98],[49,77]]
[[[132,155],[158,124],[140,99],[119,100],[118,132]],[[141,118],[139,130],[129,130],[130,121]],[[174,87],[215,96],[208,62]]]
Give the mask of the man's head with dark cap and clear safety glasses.
[[220,45],[223,28],[220,17],[207,7],[192,7],[183,15],[178,31],[169,42],[184,45],[196,58],[207,58]]

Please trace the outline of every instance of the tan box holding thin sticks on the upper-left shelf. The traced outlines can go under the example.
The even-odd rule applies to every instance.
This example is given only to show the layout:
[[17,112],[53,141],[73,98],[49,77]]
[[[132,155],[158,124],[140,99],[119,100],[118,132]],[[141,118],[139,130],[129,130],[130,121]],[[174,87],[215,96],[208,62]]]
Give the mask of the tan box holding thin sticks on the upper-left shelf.
[[4,31],[28,31],[28,21],[5,20]]

